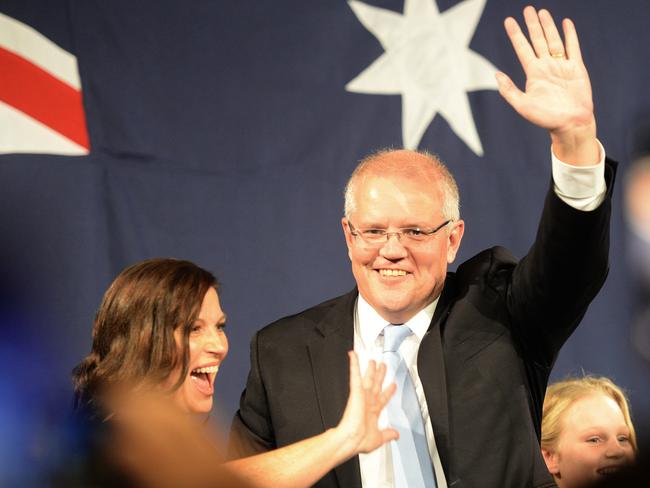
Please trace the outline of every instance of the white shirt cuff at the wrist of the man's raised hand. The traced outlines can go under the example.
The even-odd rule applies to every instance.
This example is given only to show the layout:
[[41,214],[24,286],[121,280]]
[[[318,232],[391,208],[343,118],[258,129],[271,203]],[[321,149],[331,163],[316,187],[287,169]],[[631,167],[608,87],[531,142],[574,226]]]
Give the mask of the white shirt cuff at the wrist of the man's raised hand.
[[598,141],[600,161],[593,166],[573,166],[560,161],[551,148],[553,189],[560,199],[577,210],[594,210],[605,199],[605,148]]

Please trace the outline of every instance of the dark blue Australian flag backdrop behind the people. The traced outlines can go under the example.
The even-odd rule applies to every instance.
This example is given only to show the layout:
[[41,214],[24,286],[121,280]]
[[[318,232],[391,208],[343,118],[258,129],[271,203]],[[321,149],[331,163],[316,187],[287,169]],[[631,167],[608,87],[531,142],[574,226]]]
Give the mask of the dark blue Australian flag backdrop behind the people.
[[[102,294],[142,259],[189,259],[222,283],[230,353],[214,417],[226,431],[253,333],[354,285],[342,192],[375,149],[427,149],[456,175],[457,262],[495,244],[523,256],[550,141],[494,72],[523,86],[503,19],[521,23],[525,5],[0,0],[0,484],[57,451]],[[611,377],[647,435],[650,250],[624,183],[650,152],[650,3],[536,7],[575,21],[598,135],[621,163],[609,278],[553,379]]]

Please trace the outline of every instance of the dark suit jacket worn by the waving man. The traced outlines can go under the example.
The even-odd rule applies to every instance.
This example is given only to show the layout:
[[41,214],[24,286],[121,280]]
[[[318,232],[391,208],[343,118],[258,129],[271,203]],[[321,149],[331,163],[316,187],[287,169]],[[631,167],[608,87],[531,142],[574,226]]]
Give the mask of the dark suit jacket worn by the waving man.
[[[550,191],[522,260],[494,247],[449,273],[418,352],[450,487],[555,486],[539,448],[544,393],[562,344],[608,270],[608,195],[594,211]],[[231,432],[231,455],[285,446],[337,425],[348,394],[357,291],[265,327]],[[318,487],[360,487],[358,457]],[[372,488],[372,487],[366,487]]]

